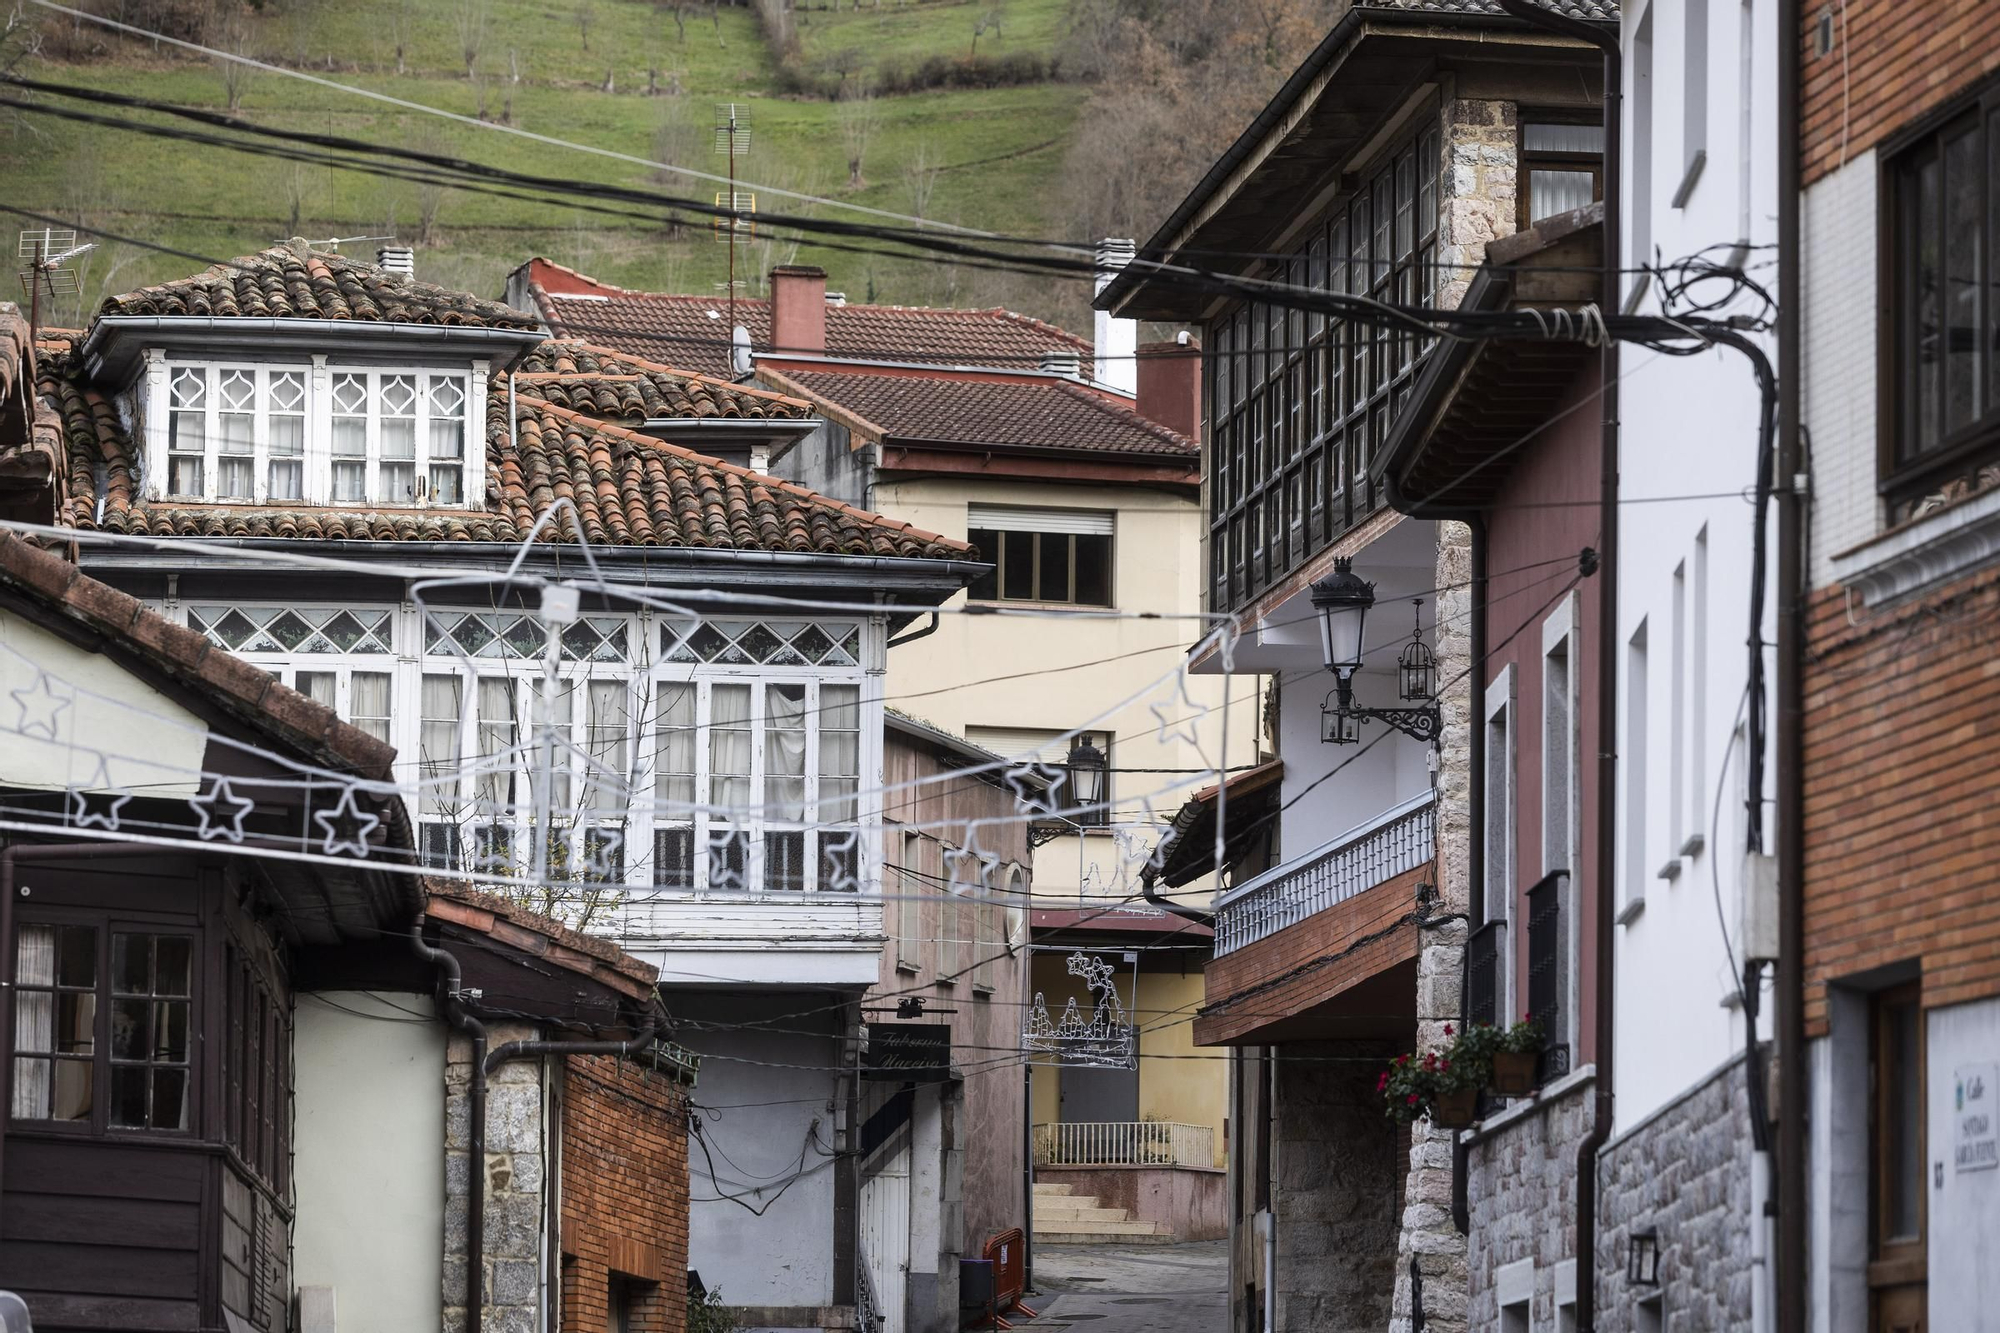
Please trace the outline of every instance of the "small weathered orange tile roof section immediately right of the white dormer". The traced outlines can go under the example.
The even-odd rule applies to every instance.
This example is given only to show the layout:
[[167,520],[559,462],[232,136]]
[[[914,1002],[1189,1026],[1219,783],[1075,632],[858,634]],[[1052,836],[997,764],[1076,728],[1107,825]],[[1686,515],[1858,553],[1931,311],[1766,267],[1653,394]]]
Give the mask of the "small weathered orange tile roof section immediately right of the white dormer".
[[740,418],[812,420],[812,404],[628,356],[590,342],[550,338],[514,364],[514,384],[556,406],[606,420]]

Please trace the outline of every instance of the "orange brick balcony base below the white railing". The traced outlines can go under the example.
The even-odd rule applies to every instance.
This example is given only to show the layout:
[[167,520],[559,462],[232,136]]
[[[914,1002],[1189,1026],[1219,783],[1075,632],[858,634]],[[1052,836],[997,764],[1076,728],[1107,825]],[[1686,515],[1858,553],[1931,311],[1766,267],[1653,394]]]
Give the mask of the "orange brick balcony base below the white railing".
[[1434,883],[1436,869],[1420,865],[1210,963],[1202,973],[1208,999],[1194,1021],[1196,1045],[1270,1041],[1260,1029],[1398,965],[1410,965],[1408,987],[1414,987],[1422,949],[1416,887]]

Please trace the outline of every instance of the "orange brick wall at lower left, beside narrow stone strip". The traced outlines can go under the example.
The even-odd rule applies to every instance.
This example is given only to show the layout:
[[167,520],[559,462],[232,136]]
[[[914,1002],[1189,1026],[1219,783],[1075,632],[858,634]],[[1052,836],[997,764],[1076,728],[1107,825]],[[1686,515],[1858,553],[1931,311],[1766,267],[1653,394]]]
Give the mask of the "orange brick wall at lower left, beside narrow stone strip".
[[688,1095],[614,1057],[562,1081],[562,1333],[688,1327]]

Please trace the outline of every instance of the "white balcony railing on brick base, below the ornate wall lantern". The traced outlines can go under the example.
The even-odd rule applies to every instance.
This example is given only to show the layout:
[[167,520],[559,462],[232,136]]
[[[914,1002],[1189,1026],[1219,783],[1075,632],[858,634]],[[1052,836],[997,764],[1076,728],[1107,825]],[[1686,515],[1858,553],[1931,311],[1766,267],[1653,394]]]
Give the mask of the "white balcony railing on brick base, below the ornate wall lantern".
[[1218,897],[1216,957],[1414,871],[1436,851],[1436,795],[1426,791]]

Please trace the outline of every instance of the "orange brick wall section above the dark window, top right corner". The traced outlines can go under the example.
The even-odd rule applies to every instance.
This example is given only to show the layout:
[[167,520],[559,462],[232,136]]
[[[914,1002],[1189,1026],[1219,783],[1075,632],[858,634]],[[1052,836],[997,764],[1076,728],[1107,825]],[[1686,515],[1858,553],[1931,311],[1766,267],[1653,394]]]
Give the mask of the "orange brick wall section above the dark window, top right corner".
[[[1986,0],[1802,8],[1800,152],[1808,186],[2000,68],[2000,22]],[[1822,56],[1816,30],[1828,8],[1834,46]]]

